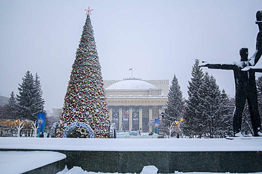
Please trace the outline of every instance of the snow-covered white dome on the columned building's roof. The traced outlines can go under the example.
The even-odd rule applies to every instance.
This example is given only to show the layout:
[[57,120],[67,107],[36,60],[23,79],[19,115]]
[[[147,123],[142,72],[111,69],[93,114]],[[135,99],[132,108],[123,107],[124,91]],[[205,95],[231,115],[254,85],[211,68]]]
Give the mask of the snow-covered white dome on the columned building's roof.
[[156,86],[138,79],[124,79],[106,88],[111,89],[158,89]]

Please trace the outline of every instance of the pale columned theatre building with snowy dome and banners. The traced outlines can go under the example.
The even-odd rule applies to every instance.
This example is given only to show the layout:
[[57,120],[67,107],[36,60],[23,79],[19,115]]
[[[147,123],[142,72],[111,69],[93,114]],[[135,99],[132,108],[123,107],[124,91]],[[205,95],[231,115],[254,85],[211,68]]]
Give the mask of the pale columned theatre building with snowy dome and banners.
[[168,100],[168,80],[125,78],[104,81],[110,120],[119,131],[151,132],[149,122],[159,118]]

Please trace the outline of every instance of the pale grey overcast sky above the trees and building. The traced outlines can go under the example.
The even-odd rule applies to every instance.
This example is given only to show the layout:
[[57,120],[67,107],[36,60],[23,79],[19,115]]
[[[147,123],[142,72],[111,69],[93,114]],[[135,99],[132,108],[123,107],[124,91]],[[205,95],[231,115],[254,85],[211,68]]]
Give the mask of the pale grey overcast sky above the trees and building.
[[[129,68],[169,84],[176,74],[186,98],[195,59],[240,60],[242,47],[253,55],[262,10],[261,0],[0,0],[0,95],[17,94],[29,70],[45,109],[62,107],[88,6],[103,80],[131,77]],[[235,95],[233,71],[203,71]]]

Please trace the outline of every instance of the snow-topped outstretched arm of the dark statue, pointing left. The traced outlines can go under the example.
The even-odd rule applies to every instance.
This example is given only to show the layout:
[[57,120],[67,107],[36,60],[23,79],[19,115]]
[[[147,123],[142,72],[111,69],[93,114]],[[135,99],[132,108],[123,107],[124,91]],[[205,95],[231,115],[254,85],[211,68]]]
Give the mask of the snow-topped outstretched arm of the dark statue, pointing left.
[[234,62],[205,62],[199,64],[199,67],[208,67],[210,69],[234,70],[236,64]]

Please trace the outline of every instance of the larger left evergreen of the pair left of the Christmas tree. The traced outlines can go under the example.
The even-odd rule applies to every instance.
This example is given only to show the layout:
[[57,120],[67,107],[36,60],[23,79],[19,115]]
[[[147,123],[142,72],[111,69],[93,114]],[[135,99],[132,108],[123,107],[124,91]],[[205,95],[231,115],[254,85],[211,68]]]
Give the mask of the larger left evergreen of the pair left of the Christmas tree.
[[19,94],[17,97],[17,111],[18,117],[20,119],[37,119],[35,113],[35,87],[34,79],[30,71],[25,73],[25,76],[22,78],[22,84],[18,84]]

